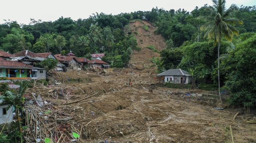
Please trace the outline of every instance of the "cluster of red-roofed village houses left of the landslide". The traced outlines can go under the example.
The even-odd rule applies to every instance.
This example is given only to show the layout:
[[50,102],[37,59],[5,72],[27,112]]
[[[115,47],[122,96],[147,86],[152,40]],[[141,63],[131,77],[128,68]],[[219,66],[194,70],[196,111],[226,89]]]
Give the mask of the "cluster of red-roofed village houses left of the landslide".
[[84,57],[76,57],[71,51],[67,55],[49,53],[33,53],[23,50],[14,54],[9,54],[0,50],[0,77],[14,80],[45,79],[44,68],[35,67],[35,63],[40,63],[45,59],[56,59],[56,71],[82,70],[83,68],[102,69],[109,68],[110,65],[101,58],[105,54],[92,54],[92,60]]

